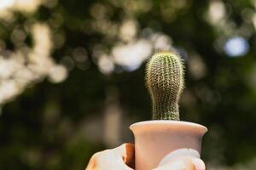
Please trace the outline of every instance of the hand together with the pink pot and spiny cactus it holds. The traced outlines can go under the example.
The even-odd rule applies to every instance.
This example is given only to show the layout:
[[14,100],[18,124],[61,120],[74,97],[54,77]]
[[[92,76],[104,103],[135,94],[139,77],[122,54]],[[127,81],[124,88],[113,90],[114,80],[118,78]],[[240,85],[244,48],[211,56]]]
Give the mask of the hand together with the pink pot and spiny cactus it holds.
[[[93,156],[88,170],[205,170],[200,159],[201,139],[207,127],[179,121],[178,101],[183,91],[183,59],[173,52],[160,52],[148,60],[146,86],[152,101],[152,121],[136,122],[130,129],[133,145],[106,150]],[[126,164],[127,165],[126,165]]]

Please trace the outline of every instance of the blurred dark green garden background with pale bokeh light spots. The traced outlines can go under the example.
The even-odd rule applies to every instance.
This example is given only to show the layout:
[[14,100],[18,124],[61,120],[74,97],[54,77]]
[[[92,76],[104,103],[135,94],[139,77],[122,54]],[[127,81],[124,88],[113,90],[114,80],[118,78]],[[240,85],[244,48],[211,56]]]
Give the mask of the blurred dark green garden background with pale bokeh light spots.
[[0,169],[84,169],[150,119],[145,62],[185,60],[210,170],[256,167],[254,0],[0,0]]

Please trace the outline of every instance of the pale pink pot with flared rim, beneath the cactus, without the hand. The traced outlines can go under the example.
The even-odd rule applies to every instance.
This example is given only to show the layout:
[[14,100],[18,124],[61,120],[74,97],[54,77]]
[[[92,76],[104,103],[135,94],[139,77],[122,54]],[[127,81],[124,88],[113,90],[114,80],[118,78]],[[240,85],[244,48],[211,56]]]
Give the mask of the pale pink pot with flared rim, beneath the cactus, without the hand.
[[130,129],[135,137],[136,170],[157,167],[174,150],[189,149],[200,154],[201,139],[207,132],[207,127],[200,124],[181,121],[137,122]]

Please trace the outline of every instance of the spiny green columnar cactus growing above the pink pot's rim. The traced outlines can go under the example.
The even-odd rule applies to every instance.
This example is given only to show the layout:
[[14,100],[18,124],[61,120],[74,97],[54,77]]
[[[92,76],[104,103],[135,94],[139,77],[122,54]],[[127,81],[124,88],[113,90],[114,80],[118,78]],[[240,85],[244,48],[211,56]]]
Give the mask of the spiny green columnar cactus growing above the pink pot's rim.
[[183,60],[172,52],[157,53],[146,68],[146,86],[153,120],[179,120],[178,100],[183,91]]

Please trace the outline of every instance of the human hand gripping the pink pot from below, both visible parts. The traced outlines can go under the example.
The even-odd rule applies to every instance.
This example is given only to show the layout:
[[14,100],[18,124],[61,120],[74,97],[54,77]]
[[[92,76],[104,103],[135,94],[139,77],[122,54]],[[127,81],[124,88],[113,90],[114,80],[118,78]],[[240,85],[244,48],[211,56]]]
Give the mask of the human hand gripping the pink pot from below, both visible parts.
[[[112,150],[97,152],[90,158],[85,170],[133,170],[134,144],[122,144]],[[154,170],[205,170],[205,164],[199,158],[182,157],[170,161]]]

